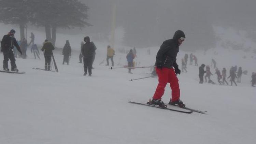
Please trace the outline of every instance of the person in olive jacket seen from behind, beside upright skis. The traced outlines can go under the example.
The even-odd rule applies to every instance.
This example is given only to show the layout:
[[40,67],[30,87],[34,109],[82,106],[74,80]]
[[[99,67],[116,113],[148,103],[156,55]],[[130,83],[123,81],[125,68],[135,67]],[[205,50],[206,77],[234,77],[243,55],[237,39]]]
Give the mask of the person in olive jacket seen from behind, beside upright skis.
[[45,59],[44,69],[46,71],[49,71],[51,68],[51,59],[52,59],[54,49],[55,48],[50,41],[48,41],[48,40],[44,41],[41,51],[44,52],[44,59]]

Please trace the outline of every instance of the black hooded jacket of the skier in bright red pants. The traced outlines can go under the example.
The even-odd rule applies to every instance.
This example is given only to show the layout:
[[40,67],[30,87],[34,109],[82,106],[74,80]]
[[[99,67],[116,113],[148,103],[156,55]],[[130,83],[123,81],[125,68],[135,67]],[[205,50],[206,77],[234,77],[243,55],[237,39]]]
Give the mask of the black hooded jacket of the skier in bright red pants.
[[178,39],[181,37],[185,38],[185,34],[183,31],[178,30],[174,33],[172,39],[166,40],[162,43],[156,55],[156,66],[161,65],[165,68],[179,67],[176,63],[176,56],[179,52]]

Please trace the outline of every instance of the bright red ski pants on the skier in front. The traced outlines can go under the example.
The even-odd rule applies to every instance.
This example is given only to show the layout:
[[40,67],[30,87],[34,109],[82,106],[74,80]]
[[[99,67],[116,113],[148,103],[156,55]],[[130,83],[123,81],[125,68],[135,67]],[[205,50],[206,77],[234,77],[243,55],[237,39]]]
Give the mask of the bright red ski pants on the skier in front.
[[165,92],[165,86],[167,83],[170,83],[172,89],[172,101],[180,99],[180,86],[179,80],[174,72],[174,70],[168,68],[158,69],[156,68],[156,73],[158,75],[158,85],[156,92],[153,96],[153,99],[161,99],[163,93]]

